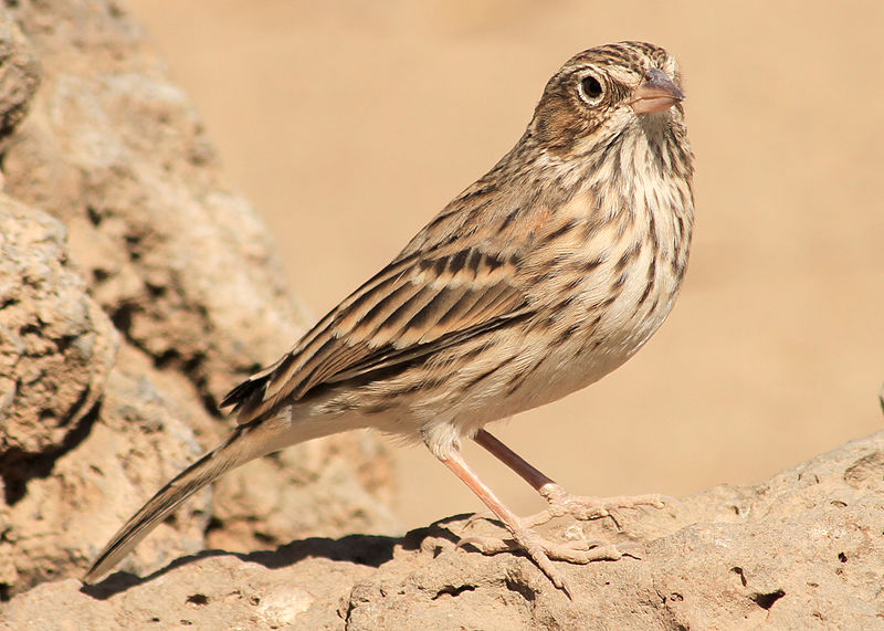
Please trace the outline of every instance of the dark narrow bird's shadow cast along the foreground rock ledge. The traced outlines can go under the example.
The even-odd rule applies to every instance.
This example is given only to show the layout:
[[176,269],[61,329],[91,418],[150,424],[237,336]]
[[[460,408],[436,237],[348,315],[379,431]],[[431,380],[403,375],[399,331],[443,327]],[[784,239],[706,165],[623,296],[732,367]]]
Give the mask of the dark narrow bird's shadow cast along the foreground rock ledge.
[[417,550],[427,537],[440,537],[454,544],[460,541],[460,536],[453,533],[449,525],[462,523],[471,515],[455,515],[440,519],[427,527],[417,528],[403,537],[387,537],[381,535],[347,535],[338,539],[326,537],[309,537],[277,547],[275,550],[257,550],[254,553],[231,553],[227,550],[203,550],[196,555],[188,555],[171,561],[164,568],[139,577],[127,571],[117,571],[95,585],[83,585],[81,593],[106,600],[159,578],[179,567],[190,565],[210,557],[236,557],[242,561],[256,562],[267,569],[278,569],[293,566],[306,558],[325,558],[333,561],[347,561],[351,564],[378,568],[393,558],[397,546],[406,550]]

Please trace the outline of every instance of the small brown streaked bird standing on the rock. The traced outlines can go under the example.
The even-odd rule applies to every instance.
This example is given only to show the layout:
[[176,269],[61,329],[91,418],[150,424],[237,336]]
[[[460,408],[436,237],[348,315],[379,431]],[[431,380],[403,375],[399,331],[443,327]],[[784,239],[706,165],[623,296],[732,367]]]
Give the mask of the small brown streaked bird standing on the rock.
[[[659,496],[568,495],[484,427],[619,367],[670,313],[687,265],[693,155],[678,65],[621,42],[571,57],[516,146],[332,309],[276,364],[231,391],[239,427],[164,486],[102,550],[92,582],[196,491],[255,458],[357,428],[421,440],[499,518],[512,543],[570,593],[550,559],[617,559],[561,545],[550,516],[661,507]],[[460,454],[473,439],[548,502],[519,519]]]

